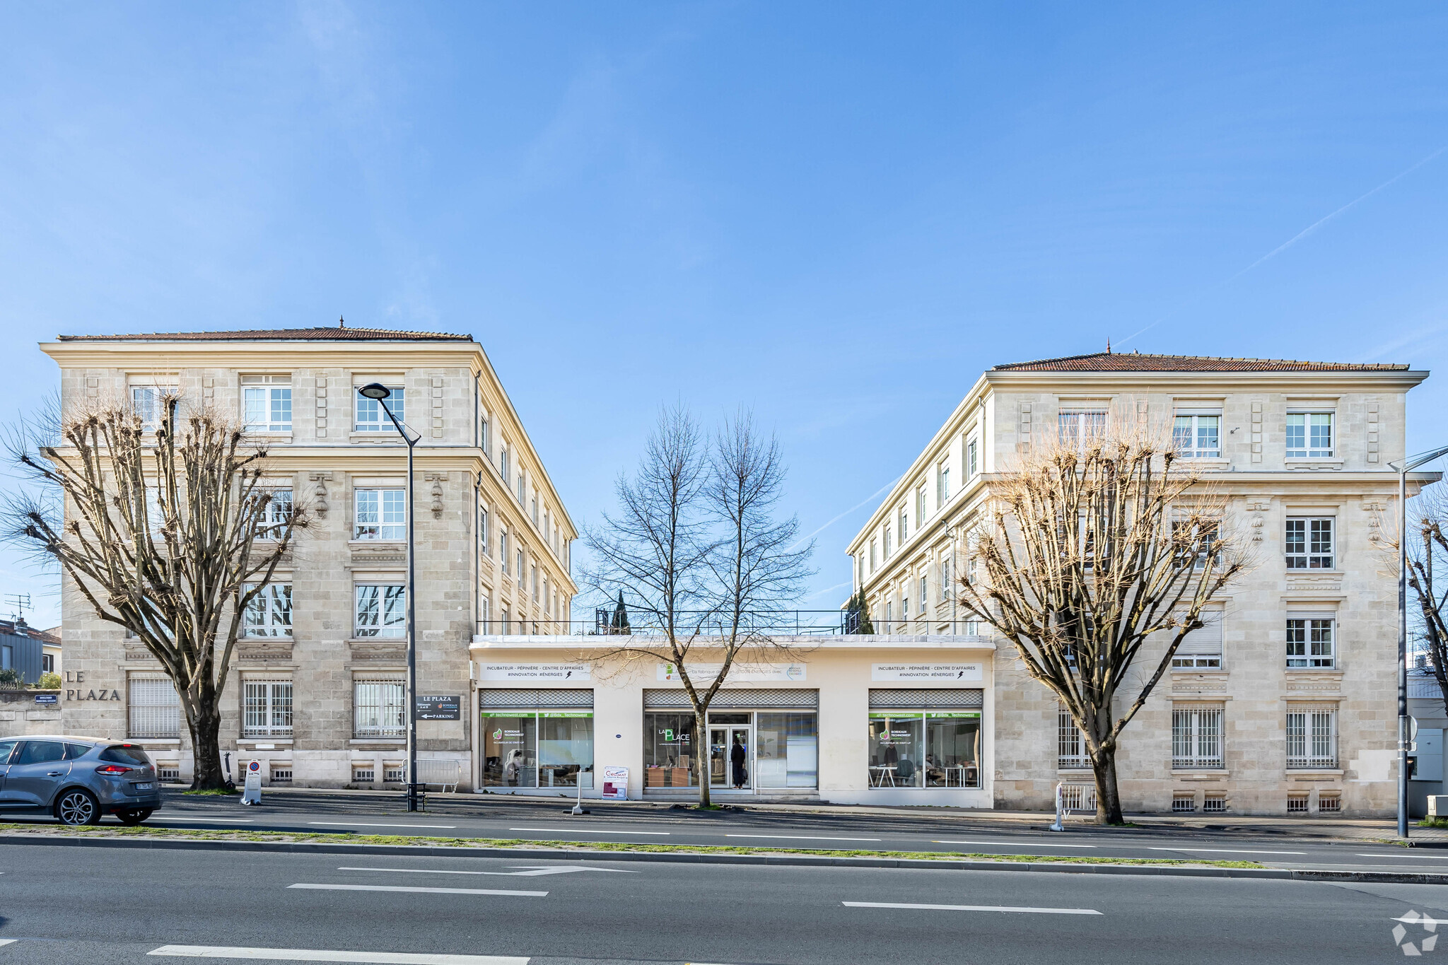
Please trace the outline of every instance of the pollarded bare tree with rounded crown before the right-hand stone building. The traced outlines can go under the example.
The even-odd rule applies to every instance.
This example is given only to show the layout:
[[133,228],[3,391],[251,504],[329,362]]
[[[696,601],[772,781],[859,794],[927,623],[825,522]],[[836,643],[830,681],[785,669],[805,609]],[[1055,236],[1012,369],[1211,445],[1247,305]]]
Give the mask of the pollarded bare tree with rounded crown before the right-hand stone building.
[[[1169,446],[1131,434],[1022,456],[992,490],[960,603],[1014,642],[1070,712],[1096,780],[1096,820],[1119,825],[1121,732],[1203,625],[1203,606],[1245,567],[1222,531],[1224,501]],[[1157,634],[1166,647],[1145,655],[1154,666],[1141,680],[1132,664]],[[1129,702],[1119,715],[1118,700]]]

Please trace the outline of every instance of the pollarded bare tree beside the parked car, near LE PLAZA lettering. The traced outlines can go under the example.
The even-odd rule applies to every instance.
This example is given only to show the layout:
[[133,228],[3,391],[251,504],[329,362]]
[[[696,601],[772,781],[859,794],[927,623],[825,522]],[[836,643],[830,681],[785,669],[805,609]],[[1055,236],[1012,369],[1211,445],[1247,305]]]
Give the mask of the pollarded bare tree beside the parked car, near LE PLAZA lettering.
[[58,440],[13,434],[38,485],[9,499],[6,535],[161,661],[191,735],[191,787],[209,790],[226,783],[222,693],[245,612],[306,515],[264,483],[266,451],[239,425],[204,408],[181,417],[178,402],[161,399],[155,433],[133,408],[100,405],[61,414]]

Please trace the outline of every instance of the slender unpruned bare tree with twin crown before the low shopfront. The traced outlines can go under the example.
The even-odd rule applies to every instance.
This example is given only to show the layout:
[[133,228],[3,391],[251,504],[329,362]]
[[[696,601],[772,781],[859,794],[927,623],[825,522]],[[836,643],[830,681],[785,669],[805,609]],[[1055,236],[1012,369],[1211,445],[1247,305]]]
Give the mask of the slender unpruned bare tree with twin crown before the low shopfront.
[[631,634],[598,657],[675,668],[694,709],[701,807],[710,806],[710,702],[736,663],[799,652],[769,634],[770,613],[798,598],[814,551],[794,516],[775,518],[783,480],[778,441],[747,412],[705,441],[688,411],[672,408],[634,476],[620,477],[617,515],[585,530],[595,558],[588,582],[633,611]]

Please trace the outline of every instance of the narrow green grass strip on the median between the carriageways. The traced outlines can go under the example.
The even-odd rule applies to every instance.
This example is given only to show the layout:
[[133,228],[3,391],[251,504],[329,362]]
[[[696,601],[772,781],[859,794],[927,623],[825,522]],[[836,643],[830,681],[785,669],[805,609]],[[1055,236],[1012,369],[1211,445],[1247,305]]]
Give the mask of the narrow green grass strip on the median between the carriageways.
[[123,828],[113,825],[6,825],[0,833],[49,838],[156,838],[177,841],[268,841],[348,845],[426,845],[433,848],[517,848],[597,851],[599,854],[691,854],[691,855],[805,855],[815,858],[906,858],[911,861],[999,861],[1018,864],[1148,865],[1193,868],[1266,868],[1257,861],[1186,861],[1180,858],[1092,858],[1086,855],[989,855],[970,851],[864,851],[822,848],[756,848],[750,845],[656,845],[624,841],[531,841],[523,838],[424,838],[418,835],[353,835],[339,832],[248,830],[217,828]]

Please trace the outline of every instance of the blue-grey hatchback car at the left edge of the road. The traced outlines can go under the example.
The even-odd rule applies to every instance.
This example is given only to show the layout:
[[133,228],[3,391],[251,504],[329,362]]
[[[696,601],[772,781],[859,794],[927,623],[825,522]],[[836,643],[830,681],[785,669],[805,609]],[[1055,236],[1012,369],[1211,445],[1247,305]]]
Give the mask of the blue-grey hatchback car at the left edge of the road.
[[139,825],[161,807],[156,768],[139,744],[78,736],[0,739],[0,812],[94,825],[114,815]]

